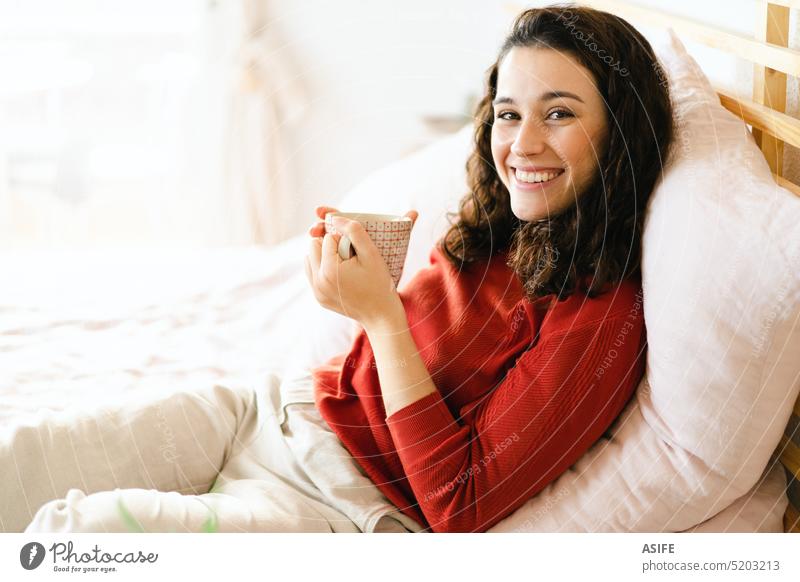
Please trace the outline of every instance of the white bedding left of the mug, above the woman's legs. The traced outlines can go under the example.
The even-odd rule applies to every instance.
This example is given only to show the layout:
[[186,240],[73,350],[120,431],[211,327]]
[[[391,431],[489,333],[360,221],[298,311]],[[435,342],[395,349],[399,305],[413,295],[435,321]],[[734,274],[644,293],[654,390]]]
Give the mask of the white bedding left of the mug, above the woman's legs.
[[282,371],[306,243],[0,253],[0,422]]

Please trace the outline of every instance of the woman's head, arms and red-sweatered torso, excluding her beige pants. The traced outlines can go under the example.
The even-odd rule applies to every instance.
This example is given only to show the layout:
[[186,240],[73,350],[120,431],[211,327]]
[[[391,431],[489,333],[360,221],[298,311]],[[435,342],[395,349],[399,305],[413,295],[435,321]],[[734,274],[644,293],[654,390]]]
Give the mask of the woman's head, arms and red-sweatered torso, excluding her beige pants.
[[615,16],[528,10],[489,69],[472,191],[431,266],[390,292],[357,222],[338,221],[357,250],[347,261],[338,236],[312,228],[317,299],[364,328],[315,370],[319,410],[434,531],[509,515],[603,434],[641,379],[642,222],[673,135],[656,63]]

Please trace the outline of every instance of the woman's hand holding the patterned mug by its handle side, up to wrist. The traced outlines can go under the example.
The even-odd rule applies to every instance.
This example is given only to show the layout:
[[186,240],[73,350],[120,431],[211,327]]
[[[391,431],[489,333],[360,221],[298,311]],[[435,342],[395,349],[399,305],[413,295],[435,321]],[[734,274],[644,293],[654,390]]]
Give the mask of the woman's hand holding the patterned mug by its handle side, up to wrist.
[[[328,206],[317,207],[317,216],[324,220]],[[405,216],[416,222],[415,210]],[[364,227],[355,220],[337,217],[336,229],[347,235],[356,255],[344,260],[339,256],[338,234],[325,233],[324,222],[309,229],[311,248],[305,259],[314,297],[326,309],[358,321],[364,328],[390,317],[396,317],[403,304],[394,287],[389,267]]]

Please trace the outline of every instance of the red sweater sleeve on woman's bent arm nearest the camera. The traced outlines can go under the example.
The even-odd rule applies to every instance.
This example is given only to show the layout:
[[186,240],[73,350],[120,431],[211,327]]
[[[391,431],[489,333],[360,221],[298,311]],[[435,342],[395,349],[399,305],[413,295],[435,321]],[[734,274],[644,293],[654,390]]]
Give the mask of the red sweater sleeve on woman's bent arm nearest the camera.
[[485,531],[566,471],[635,391],[645,346],[641,318],[594,321],[543,337],[459,422],[439,391],[389,416],[431,529]]

